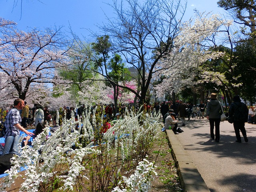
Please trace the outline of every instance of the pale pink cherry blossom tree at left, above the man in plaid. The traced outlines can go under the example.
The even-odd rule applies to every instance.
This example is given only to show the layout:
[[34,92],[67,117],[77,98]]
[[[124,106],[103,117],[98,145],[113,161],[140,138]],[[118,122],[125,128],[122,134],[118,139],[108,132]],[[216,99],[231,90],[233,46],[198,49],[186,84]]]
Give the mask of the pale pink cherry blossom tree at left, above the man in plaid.
[[68,63],[70,42],[61,28],[34,28],[29,32],[9,29],[6,24],[0,28],[0,71],[16,89],[7,96],[25,99],[32,84],[55,82],[55,69]]

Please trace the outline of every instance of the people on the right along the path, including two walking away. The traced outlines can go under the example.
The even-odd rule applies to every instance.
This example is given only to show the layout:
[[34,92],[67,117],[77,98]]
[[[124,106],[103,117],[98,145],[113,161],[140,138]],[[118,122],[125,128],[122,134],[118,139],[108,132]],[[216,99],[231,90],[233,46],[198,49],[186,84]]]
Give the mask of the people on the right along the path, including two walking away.
[[[157,106],[158,103],[155,105]],[[203,101],[198,106],[193,104],[184,103],[182,100],[172,103],[170,105],[163,102],[160,104],[160,112],[163,117],[164,127],[162,131],[166,129],[172,129],[174,134],[179,134],[177,131],[178,120],[181,120],[182,126],[185,126],[185,117],[190,120],[190,115],[193,112],[200,112],[202,119],[206,117],[210,123],[210,138],[215,139],[216,142],[220,140],[220,121],[221,114],[223,113],[223,106],[217,99],[217,94],[212,93],[207,100],[206,104]],[[239,96],[234,96],[232,104],[229,106],[229,110],[226,113],[227,118],[232,119],[234,131],[236,134],[236,142],[241,143],[241,136],[244,137],[244,141],[248,142],[248,138],[245,130],[245,122],[255,124],[256,120],[256,106],[250,106],[250,110],[246,104],[241,102]],[[215,132],[214,132],[215,129]]]

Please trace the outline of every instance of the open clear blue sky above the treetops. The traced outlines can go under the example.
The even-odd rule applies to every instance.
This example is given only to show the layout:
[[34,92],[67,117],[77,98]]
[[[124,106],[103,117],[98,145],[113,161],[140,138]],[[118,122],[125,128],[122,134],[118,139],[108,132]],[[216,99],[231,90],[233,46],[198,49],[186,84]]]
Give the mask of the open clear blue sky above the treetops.
[[[17,28],[25,31],[28,27],[51,26],[64,26],[64,30],[68,31],[70,25],[76,34],[88,36],[86,29],[97,32],[95,25],[106,22],[104,13],[110,17],[113,15],[111,7],[106,4],[112,0],[23,0],[22,9],[21,0],[15,1],[18,2],[13,8],[14,0],[0,0],[0,16],[18,23]],[[194,15],[195,8],[200,12],[223,14],[224,10],[218,8],[217,2],[188,0],[184,21]]]

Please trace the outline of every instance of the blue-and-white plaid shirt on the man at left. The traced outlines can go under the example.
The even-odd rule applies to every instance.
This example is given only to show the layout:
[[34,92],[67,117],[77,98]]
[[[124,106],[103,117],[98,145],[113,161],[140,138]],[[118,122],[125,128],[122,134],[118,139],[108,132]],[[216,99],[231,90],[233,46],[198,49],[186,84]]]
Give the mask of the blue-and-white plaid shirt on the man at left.
[[17,136],[20,134],[18,128],[13,125],[21,122],[20,111],[16,108],[12,108],[6,115],[5,126],[6,126],[6,134],[4,138],[8,136]]

